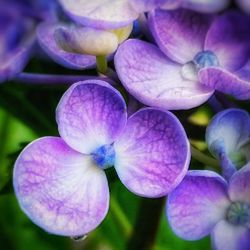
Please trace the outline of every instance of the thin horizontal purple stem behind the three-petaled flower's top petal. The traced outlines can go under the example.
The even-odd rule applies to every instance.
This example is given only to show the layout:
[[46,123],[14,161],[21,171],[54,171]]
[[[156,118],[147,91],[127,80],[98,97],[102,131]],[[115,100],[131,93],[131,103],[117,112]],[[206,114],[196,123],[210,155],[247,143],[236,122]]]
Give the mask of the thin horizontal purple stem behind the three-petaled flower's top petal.
[[84,80],[104,80],[113,84],[113,81],[107,77],[98,76],[86,76],[86,75],[51,75],[51,74],[36,74],[36,73],[21,73],[15,81],[26,83],[26,84],[49,84],[49,85],[60,85],[60,84],[73,84],[75,82]]

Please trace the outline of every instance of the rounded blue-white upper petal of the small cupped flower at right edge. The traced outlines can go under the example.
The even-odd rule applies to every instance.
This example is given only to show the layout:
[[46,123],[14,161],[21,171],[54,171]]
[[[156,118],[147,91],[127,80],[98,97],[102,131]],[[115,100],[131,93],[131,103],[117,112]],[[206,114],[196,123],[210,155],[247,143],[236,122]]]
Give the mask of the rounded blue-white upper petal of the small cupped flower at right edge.
[[[241,109],[227,109],[213,117],[206,130],[206,142],[211,152],[236,152],[250,138],[250,117]],[[218,148],[216,144],[224,148]],[[220,153],[220,152],[214,152]]]

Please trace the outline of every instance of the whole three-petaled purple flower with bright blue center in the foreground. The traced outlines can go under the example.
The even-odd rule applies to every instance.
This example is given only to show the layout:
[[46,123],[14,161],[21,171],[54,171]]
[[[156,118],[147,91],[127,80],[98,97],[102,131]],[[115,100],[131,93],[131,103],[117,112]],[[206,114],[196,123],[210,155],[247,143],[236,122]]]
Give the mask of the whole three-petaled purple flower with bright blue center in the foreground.
[[144,197],[168,194],[190,161],[187,136],[167,111],[144,108],[127,119],[121,94],[100,80],[72,85],[56,110],[61,137],[29,144],[14,167],[22,210],[58,235],[84,235],[104,219],[109,188],[104,169]]

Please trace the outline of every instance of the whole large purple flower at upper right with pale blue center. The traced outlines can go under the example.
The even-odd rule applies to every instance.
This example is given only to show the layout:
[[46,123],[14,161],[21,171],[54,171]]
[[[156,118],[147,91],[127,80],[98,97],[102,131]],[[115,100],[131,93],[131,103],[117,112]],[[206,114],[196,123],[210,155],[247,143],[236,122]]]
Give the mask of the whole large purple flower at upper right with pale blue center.
[[188,10],[157,10],[149,25],[159,48],[131,39],[115,55],[117,74],[142,103],[190,109],[214,90],[250,98],[249,18],[229,11],[214,18]]

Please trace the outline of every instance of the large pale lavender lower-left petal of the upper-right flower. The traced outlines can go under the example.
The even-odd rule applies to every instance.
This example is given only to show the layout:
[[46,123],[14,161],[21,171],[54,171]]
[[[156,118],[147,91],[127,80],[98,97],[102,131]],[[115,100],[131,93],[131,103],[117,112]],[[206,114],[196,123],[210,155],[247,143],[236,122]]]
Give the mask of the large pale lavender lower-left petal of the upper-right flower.
[[168,110],[189,109],[207,101],[213,90],[185,80],[182,67],[158,48],[127,40],[115,55],[117,74],[127,91],[142,103]]

